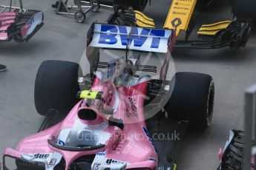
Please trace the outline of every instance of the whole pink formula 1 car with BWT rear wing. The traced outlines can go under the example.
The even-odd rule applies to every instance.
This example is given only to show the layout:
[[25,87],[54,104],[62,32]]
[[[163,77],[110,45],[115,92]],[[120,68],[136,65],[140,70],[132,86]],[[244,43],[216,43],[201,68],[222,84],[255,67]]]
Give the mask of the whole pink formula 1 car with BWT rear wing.
[[174,73],[174,42],[172,30],[93,24],[80,67],[39,67],[35,103],[46,119],[16,150],[4,150],[4,170],[176,169],[187,127],[211,124],[214,83]]

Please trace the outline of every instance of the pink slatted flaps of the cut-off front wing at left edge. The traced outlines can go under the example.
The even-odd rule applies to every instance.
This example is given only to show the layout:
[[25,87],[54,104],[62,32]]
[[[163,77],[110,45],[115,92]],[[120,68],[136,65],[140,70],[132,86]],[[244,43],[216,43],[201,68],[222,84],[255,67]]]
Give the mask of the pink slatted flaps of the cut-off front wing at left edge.
[[8,41],[9,37],[7,35],[7,28],[14,23],[16,18],[16,13],[7,12],[0,13],[0,41]]

